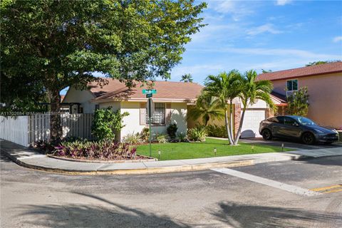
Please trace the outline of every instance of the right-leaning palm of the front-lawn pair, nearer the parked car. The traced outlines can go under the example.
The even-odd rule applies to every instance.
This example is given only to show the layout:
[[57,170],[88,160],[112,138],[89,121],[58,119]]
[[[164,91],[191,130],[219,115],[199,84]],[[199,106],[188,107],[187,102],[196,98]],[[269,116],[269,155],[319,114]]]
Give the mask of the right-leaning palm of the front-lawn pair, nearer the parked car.
[[243,109],[241,120],[239,124],[239,130],[237,131],[237,135],[235,136],[234,142],[237,143],[242,130],[242,124],[244,122],[244,113],[246,112],[246,108],[249,105],[253,105],[257,102],[257,100],[264,100],[269,108],[275,109],[275,105],[271,100],[270,93],[273,89],[271,81],[268,80],[260,80],[257,81],[257,72],[254,70],[247,71],[244,73],[242,77],[242,91],[239,94],[239,98],[242,101]]

